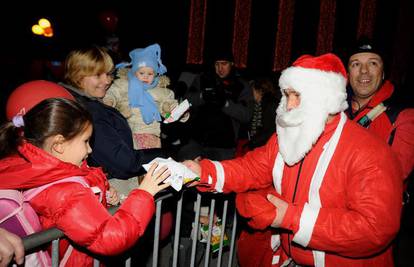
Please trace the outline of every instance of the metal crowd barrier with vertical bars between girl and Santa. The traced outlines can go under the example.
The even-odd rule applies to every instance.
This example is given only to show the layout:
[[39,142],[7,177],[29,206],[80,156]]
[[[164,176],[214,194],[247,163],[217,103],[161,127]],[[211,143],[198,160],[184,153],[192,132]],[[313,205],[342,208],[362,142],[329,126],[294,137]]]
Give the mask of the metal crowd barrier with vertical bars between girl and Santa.
[[[229,203],[234,203],[234,198],[229,196],[223,196],[221,194],[208,194],[208,198],[210,199],[210,208],[209,208],[209,228],[208,228],[208,238],[207,244],[205,245],[205,252],[203,255],[204,265],[198,264],[196,265],[196,253],[197,253],[197,242],[199,235],[199,220],[200,220],[200,209],[201,209],[201,202],[206,194],[194,193],[192,189],[190,190],[183,190],[179,193],[179,195],[173,193],[164,193],[160,194],[160,196],[156,197],[156,212],[155,212],[155,229],[154,229],[154,244],[153,244],[153,253],[152,253],[152,262],[149,262],[151,266],[183,266],[179,263],[179,246],[180,246],[180,230],[181,230],[181,219],[183,213],[183,200],[186,194],[191,192],[192,194],[196,194],[196,200],[194,201],[194,221],[193,221],[193,231],[191,233],[192,239],[192,246],[191,246],[191,263],[190,266],[228,266],[234,267],[237,266],[237,261],[235,258],[235,240],[236,240],[236,230],[237,230],[237,213],[234,208],[234,205],[229,208]],[[174,200],[174,198],[178,197],[177,206],[176,206],[176,216],[175,216],[175,228],[173,233],[173,241],[172,241],[172,252],[170,262],[168,264],[161,264],[160,263],[160,226],[161,226],[161,209],[163,202],[166,200]],[[223,203],[221,214],[222,218],[222,231],[220,236],[220,246],[218,252],[214,253],[214,261],[213,261],[213,253],[210,251],[211,248],[211,236],[213,230],[213,220],[216,214],[216,205],[217,203]],[[109,208],[109,212],[114,214],[119,207],[111,207]],[[220,214],[219,214],[220,215]],[[228,221],[228,217],[230,220]],[[196,227],[194,227],[194,225]],[[224,251],[223,240],[224,235],[227,234],[229,237],[229,246],[227,247],[228,250]],[[51,228],[48,230],[44,230],[38,233],[34,233],[28,235],[27,237],[23,238],[23,244],[25,247],[25,251],[28,253],[35,252],[36,249],[42,247],[45,244],[52,243],[52,250],[51,250],[51,257],[52,257],[52,266],[58,267],[59,266],[59,239],[65,238],[65,235],[62,231],[58,230],[57,228]],[[224,264],[223,255],[226,254],[227,264]],[[134,255],[128,255],[128,258],[125,260],[126,267],[131,266],[131,258]],[[164,260],[165,261],[165,260]],[[98,267],[99,261],[95,258],[94,259],[94,266]],[[148,263],[146,266],[149,266]]]

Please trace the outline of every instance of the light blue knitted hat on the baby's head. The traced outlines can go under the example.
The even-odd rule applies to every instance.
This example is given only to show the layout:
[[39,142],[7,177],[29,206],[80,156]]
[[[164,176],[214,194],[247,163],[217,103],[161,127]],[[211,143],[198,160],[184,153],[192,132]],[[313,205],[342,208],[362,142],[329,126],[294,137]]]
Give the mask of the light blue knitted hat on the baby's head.
[[134,49],[129,53],[129,57],[131,58],[132,72],[136,72],[141,67],[150,67],[157,74],[167,72],[167,68],[161,61],[161,48],[158,44]]

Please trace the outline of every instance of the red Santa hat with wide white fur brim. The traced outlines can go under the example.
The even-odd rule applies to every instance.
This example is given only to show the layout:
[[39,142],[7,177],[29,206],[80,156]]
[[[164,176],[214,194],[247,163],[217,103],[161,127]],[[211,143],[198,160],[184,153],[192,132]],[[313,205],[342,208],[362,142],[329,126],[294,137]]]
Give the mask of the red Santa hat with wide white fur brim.
[[301,94],[301,101],[317,100],[328,114],[344,111],[347,73],[342,61],[334,54],[304,55],[285,69],[279,79],[282,90],[293,89]]

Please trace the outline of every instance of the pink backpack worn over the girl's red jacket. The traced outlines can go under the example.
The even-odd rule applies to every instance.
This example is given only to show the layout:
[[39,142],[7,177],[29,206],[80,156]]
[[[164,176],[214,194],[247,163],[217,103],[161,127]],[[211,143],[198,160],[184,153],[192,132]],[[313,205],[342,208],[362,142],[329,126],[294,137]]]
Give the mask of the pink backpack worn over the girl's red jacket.
[[[74,176],[26,191],[9,189],[0,190],[0,227],[20,237],[25,237],[41,231],[42,226],[39,217],[30,206],[29,201],[46,188],[54,184],[65,182],[76,182],[85,187],[90,187],[84,178]],[[68,251],[71,250],[68,249]],[[66,255],[64,258],[67,258]],[[45,250],[40,250],[25,256],[25,266],[47,267],[51,265],[51,258],[49,253]]]

